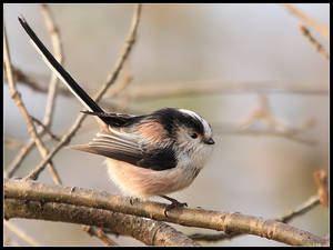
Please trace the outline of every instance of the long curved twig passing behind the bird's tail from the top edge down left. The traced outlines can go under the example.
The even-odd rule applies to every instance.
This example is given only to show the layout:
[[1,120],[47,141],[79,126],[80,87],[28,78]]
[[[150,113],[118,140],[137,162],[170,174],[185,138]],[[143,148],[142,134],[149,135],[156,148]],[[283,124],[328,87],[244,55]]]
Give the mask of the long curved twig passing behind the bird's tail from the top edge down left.
[[[109,89],[110,86],[112,86],[114,83],[114,81],[117,80],[117,77],[125,61],[125,59],[128,58],[131,48],[134,43],[135,40],[135,34],[137,34],[137,29],[138,29],[138,24],[139,24],[139,20],[140,20],[140,12],[141,12],[141,4],[135,6],[134,8],[134,16],[133,16],[133,20],[132,20],[132,26],[130,28],[129,31],[129,36],[125,40],[125,43],[121,50],[121,53],[119,56],[119,59],[115,62],[115,67],[112,70],[112,73],[109,74],[107,82],[102,86],[101,90],[98,92],[97,97],[94,98],[94,100],[98,102],[98,100],[100,100],[102,98],[102,96],[104,94],[104,92]],[[69,129],[68,133],[65,133],[62,138],[61,141],[50,151],[50,153],[47,156],[47,158],[31,172],[29,173],[29,178],[36,180],[39,176],[39,173],[44,169],[44,166],[52,159],[52,157],[67,143],[70,142],[71,138],[75,134],[75,132],[79,130],[81,123],[83,122],[85,118],[85,114],[80,113],[77,118],[77,120],[74,121],[74,123],[72,124],[72,127]]]

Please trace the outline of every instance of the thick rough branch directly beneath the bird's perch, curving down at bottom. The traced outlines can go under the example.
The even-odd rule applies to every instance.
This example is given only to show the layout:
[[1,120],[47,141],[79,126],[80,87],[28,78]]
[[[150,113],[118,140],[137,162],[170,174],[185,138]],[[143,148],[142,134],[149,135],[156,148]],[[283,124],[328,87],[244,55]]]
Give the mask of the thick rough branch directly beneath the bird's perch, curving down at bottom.
[[113,211],[77,207],[59,202],[4,200],[4,216],[10,218],[62,221],[109,228],[112,231],[131,236],[149,246],[199,246],[172,227],[154,220],[123,214]]

